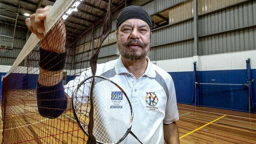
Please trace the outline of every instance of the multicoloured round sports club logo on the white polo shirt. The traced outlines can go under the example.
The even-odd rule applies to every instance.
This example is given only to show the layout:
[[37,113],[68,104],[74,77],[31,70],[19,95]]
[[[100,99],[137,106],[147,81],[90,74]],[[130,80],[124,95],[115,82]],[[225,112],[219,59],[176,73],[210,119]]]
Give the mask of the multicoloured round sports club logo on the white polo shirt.
[[156,107],[158,104],[158,97],[155,92],[147,92],[145,101],[147,111],[158,111],[158,107]]

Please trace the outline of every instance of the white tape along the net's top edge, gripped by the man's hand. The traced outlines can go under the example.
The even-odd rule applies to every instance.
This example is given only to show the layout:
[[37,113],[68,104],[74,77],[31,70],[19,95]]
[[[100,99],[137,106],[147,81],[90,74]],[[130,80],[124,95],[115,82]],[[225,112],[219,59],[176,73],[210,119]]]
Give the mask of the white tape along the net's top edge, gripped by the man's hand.
[[[56,0],[52,9],[49,11],[46,19],[44,20],[45,24],[45,32],[44,35],[54,26],[54,24],[62,17],[62,15],[69,9],[70,6],[76,0]],[[11,66],[10,70],[4,75],[4,78],[7,77],[22,61],[23,59],[35,48],[37,43],[40,40],[37,38],[35,34],[31,34],[26,44],[23,46],[20,54],[18,55],[17,59]]]

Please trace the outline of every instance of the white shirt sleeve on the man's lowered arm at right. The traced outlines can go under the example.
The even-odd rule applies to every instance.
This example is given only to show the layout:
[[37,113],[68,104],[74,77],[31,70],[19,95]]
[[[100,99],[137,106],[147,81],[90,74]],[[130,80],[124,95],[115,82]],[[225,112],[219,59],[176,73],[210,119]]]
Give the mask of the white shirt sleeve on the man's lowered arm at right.
[[179,120],[179,113],[176,102],[176,92],[172,78],[170,79],[169,83],[169,99],[167,100],[167,105],[165,109],[165,118],[163,119],[164,124],[171,124],[172,122]]

